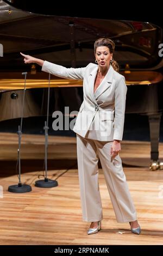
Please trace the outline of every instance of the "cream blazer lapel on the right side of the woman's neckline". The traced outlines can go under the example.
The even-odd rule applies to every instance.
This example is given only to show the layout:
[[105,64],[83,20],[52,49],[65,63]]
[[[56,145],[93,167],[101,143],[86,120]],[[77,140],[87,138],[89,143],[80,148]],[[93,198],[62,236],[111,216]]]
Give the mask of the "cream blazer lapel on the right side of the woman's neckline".
[[[105,90],[107,90],[112,83],[112,76],[113,76],[113,71],[114,69],[112,68],[112,66],[110,65],[110,68],[107,72],[107,74],[105,75],[103,81],[101,82],[101,84],[99,84],[99,86],[96,89],[95,92],[95,99],[97,100],[97,98],[105,92]],[[95,77],[96,78],[96,77]],[[95,82],[95,81],[94,81]],[[93,84],[93,89],[94,89],[94,84]],[[94,94],[94,93],[93,93]]]

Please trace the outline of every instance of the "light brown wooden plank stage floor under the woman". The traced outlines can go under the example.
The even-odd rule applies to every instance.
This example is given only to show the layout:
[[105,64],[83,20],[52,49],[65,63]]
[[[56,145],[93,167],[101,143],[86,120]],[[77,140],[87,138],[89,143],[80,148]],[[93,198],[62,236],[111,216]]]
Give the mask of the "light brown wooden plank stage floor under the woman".
[[[1,133],[0,141],[3,188],[0,245],[163,245],[163,170],[149,170],[148,142],[123,141],[121,151],[141,235],[131,233],[129,223],[116,222],[102,169],[99,169],[102,230],[87,235],[90,223],[82,221],[76,138],[49,136],[48,178],[58,177],[59,186],[38,188],[34,182],[42,174],[44,138],[23,135],[22,182],[32,186],[32,192],[24,194],[8,192],[8,186],[18,182],[15,173],[17,136]],[[162,149],[160,143],[161,157]]]

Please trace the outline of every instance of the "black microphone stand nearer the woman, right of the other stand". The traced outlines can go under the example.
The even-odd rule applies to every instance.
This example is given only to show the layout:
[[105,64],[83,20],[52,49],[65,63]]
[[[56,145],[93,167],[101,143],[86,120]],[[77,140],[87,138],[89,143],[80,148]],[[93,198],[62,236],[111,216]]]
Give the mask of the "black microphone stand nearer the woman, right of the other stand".
[[47,103],[47,121],[45,121],[45,126],[43,129],[45,130],[45,179],[35,181],[36,187],[57,187],[57,180],[51,180],[47,178],[47,149],[48,149],[48,117],[49,117],[49,94],[50,94],[50,82],[51,82],[51,74],[49,74],[49,84],[48,84],[48,103]]

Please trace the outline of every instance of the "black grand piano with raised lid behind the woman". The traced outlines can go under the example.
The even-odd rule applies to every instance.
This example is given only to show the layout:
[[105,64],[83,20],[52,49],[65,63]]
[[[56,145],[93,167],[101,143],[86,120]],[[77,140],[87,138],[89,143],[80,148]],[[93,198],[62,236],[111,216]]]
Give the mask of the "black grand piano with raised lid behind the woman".
[[[162,29],[149,22],[101,20],[28,13],[0,1],[0,121],[21,117],[23,71],[28,71],[24,117],[46,114],[48,74],[40,66],[24,65],[20,51],[67,67],[82,67],[93,58],[93,42],[99,37],[115,41],[114,59],[128,86],[126,113],[147,115],[151,137],[151,169],[159,164],[162,113],[163,58],[159,57]],[[51,77],[51,107],[79,109],[81,81]],[[1,124],[0,124],[1,125]]]

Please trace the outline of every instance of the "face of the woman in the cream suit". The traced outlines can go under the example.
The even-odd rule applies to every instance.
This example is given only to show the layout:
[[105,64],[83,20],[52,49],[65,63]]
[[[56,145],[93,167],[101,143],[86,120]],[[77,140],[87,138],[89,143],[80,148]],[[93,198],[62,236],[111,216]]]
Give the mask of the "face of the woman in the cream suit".
[[112,59],[112,53],[110,53],[109,48],[106,46],[99,46],[96,49],[95,58],[97,60],[97,64],[101,68],[109,67],[110,60]]

